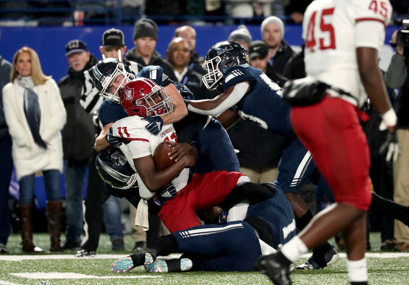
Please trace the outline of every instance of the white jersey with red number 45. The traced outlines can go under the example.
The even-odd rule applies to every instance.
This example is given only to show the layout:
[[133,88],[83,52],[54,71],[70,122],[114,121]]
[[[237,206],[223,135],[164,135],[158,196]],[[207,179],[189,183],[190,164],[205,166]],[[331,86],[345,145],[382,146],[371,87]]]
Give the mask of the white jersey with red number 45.
[[389,0],[313,1],[303,19],[307,75],[350,93],[357,102],[347,96],[341,98],[362,105],[366,94],[356,48],[372,47],[380,54],[391,13]]

